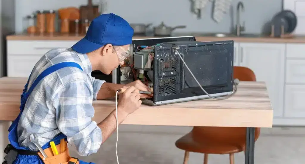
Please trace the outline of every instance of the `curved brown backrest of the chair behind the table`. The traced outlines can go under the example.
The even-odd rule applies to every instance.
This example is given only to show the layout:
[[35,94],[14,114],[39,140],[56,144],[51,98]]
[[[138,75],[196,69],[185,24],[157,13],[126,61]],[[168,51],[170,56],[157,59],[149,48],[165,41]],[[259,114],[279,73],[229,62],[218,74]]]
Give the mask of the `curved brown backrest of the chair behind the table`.
[[[233,67],[233,78],[238,78],[239,81],[256,81],[254,72],[247,67]],[[192,137],[194,140],[200,142],[201,136],[213,140],[224,140],[230,142],[245,143],[246,142],[246,128],[241,127],[199,127],[195,126],[192,129]],[[255,128],[256,141],[260,135],[260,128]]]

